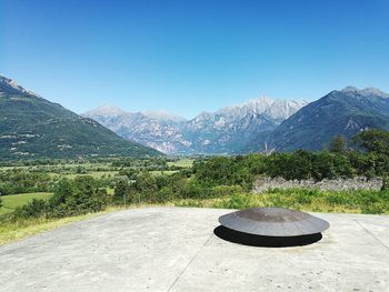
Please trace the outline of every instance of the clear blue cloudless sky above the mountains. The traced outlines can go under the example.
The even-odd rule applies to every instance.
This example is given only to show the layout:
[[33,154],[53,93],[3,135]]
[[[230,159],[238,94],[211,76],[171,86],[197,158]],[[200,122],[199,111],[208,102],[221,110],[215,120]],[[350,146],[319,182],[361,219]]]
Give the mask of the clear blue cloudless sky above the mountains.
[[389,1],[0,0],[0,73],[78,113],[388,92]]

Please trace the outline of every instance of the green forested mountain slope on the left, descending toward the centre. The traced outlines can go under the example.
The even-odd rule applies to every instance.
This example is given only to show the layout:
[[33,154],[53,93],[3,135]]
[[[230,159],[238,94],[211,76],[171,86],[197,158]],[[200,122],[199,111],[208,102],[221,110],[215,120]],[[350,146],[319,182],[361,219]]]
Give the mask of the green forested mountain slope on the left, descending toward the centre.
[[0,77],[0,160],[156,154]]

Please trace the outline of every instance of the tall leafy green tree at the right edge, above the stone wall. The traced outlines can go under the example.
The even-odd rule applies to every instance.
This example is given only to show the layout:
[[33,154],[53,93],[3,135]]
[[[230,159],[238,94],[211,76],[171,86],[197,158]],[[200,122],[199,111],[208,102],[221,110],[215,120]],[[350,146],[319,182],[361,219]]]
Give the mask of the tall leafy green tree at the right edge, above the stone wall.
[[369,129],[360,132],[353,141],[368,152],[389,155],[389,132]]

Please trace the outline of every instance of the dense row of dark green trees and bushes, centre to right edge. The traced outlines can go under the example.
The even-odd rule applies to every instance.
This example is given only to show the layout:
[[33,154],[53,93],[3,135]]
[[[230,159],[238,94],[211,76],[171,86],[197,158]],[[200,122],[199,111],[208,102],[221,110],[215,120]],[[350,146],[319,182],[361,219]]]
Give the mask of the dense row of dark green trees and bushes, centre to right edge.
[[[238,157],[215,157],[194,162],[191,170],[152,177],[148,172],[116,185],[113,202],[160,203],[179,199],[207,199],[249,191],[258,175],[288,180],[383,177],[389,174],[389,133],[368,130],[357,135],[359,151],[347,150],[337,138],[321,152],[298,150]],[[129,173],[129,179],[133,173]],[[386,179],[387,181],[387,179]]]

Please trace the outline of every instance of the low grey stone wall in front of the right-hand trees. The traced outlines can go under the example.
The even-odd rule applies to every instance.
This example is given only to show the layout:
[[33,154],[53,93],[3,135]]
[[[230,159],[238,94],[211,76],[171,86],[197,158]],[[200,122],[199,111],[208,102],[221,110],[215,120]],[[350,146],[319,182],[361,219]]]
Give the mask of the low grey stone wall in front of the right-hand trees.
[[336,180],[292,180],[288,181],[282,178],[259,178],[255,182],[255,192],[265,192],[269,189],[288,189],[288,188],[305,188],[320,189],[323,191],[351,191],[351,190],[381,190],[383,180],[381,178],[367,179],[363,177],[352,179],[336,179]]

